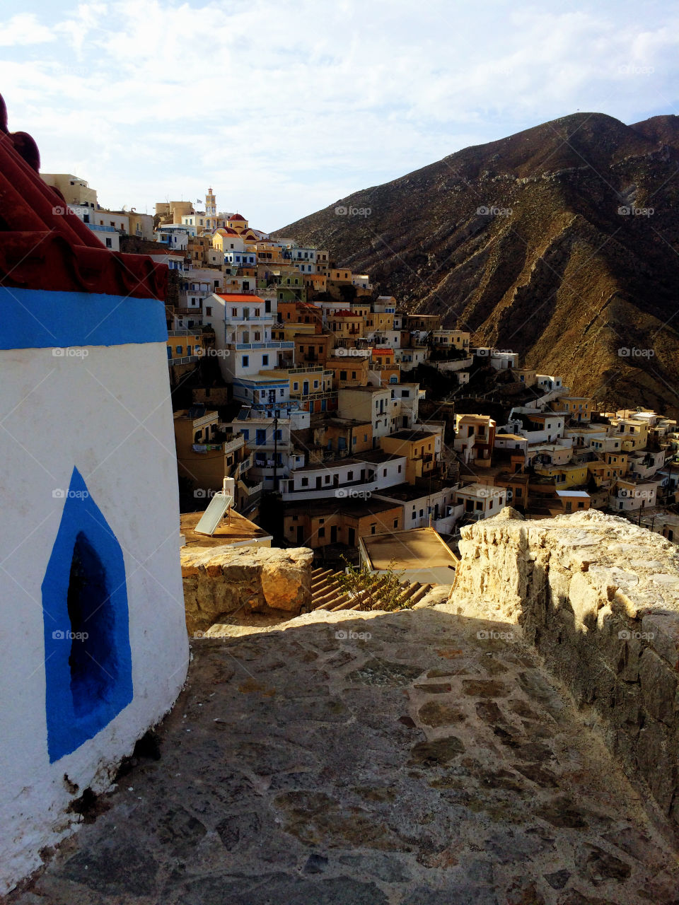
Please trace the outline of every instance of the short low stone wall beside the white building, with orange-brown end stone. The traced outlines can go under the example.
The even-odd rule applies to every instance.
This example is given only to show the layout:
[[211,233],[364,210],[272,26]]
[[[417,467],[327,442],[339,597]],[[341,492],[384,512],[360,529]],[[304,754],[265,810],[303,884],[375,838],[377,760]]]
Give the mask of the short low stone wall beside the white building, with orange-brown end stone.
[[311,606],[310,549],[185,547],[181,560],[189,634],[205,632],[220,617],[292,617]]

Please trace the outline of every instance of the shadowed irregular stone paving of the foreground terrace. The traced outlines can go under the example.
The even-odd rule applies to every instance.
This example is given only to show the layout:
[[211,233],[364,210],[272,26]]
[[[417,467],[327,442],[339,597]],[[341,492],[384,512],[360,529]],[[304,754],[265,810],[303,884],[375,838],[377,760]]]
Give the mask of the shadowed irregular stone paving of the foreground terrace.
[[516,626],[254,632],[194,642],[160,759],[12,905],[679,903],[665,825]]

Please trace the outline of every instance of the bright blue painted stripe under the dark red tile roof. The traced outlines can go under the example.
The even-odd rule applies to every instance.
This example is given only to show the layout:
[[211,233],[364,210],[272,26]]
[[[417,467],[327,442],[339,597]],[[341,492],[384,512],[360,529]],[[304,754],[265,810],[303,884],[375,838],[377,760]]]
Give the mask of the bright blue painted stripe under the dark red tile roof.
[[92,292],[0,286],[0,349],[166,342],[165,304]]

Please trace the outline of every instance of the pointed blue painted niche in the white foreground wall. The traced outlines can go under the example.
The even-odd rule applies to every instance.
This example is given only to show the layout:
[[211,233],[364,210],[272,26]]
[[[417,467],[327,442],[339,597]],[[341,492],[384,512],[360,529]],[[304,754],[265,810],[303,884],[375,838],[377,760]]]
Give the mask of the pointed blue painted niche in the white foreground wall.
[[133,696],[122,550],[77,468],[43,579],[43,626],[53,763],[94,738]]

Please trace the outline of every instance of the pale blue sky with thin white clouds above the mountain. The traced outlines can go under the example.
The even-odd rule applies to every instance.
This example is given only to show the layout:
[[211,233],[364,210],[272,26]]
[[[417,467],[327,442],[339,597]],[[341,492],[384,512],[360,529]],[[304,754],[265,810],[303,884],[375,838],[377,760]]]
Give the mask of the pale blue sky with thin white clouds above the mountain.
[[100,205],[270,232],[569,113],[679,113],[679,7],[505,0],[0,4],[0,93]]

